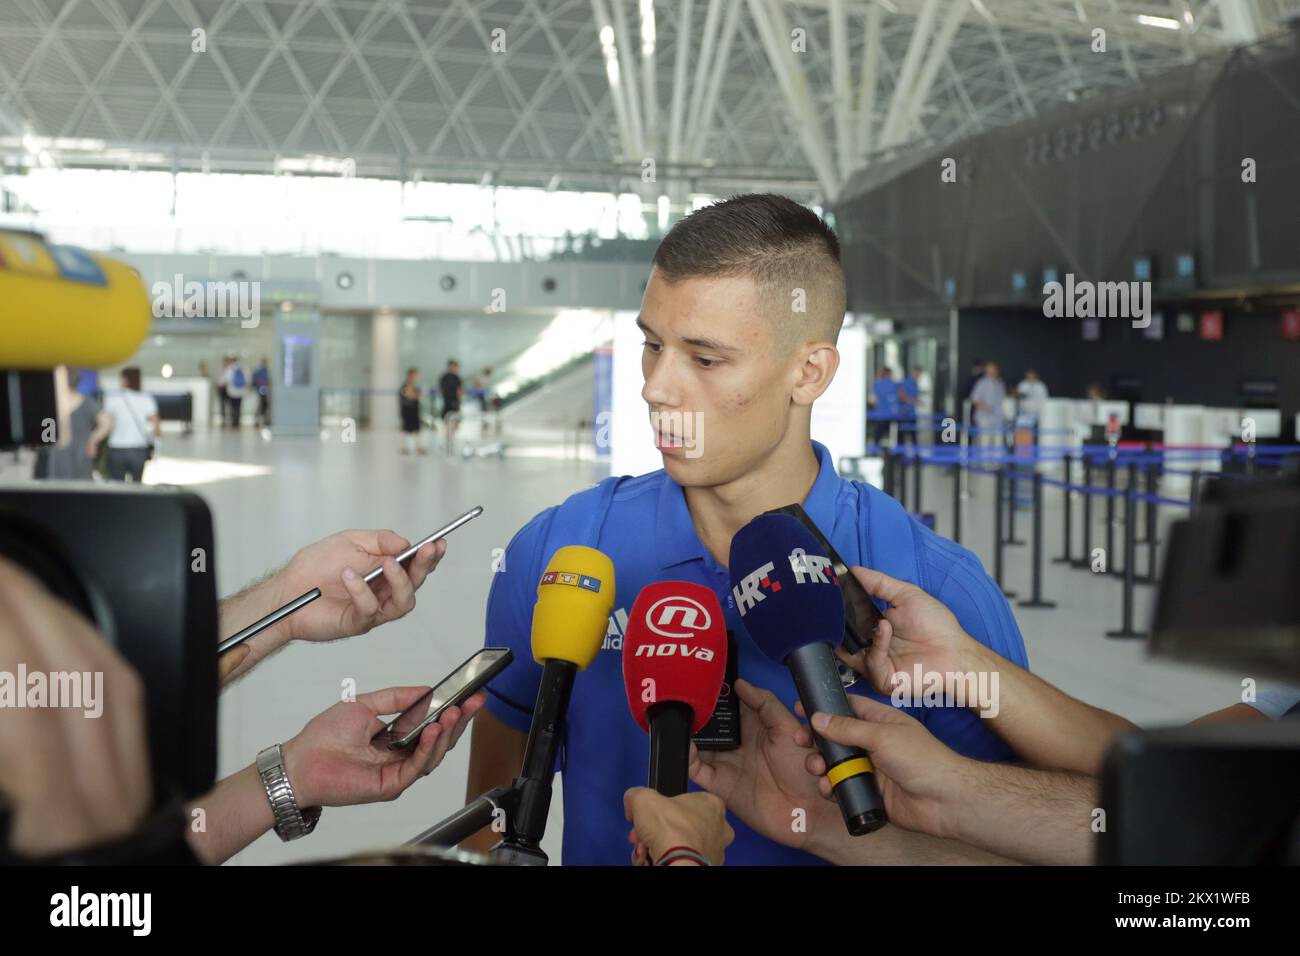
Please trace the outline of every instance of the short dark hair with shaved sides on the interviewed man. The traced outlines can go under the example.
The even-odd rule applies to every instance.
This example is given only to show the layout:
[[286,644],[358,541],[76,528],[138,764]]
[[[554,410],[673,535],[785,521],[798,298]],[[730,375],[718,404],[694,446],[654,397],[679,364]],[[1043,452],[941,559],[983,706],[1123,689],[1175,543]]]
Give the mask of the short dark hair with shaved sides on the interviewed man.
[[844,324],[840,241],[806,206],[771,193],[731,196],[677,221],[654,254],[654,268],[670,282],[710,276],[749,276],[786,316],[794,289],[806,295],[802,325],[783,323],[784,338],[798,333],[833,342]]

